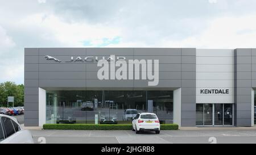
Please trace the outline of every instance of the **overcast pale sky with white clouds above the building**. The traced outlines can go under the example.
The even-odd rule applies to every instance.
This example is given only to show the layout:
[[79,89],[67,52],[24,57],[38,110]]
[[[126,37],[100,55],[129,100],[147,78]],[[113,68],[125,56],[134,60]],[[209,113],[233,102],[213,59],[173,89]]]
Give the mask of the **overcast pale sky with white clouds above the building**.
[[255,0],[0,0],[0,82],[24,47],[255,48]]

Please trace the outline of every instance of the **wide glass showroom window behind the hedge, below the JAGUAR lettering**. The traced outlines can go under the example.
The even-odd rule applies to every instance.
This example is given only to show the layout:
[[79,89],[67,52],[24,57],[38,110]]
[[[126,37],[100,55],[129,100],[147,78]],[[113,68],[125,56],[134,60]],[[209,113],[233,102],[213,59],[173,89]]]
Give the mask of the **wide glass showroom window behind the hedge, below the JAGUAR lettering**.
[[47,123],[131,123],[138,112],[155,112],[172,123],[172,91],[47,91]]

